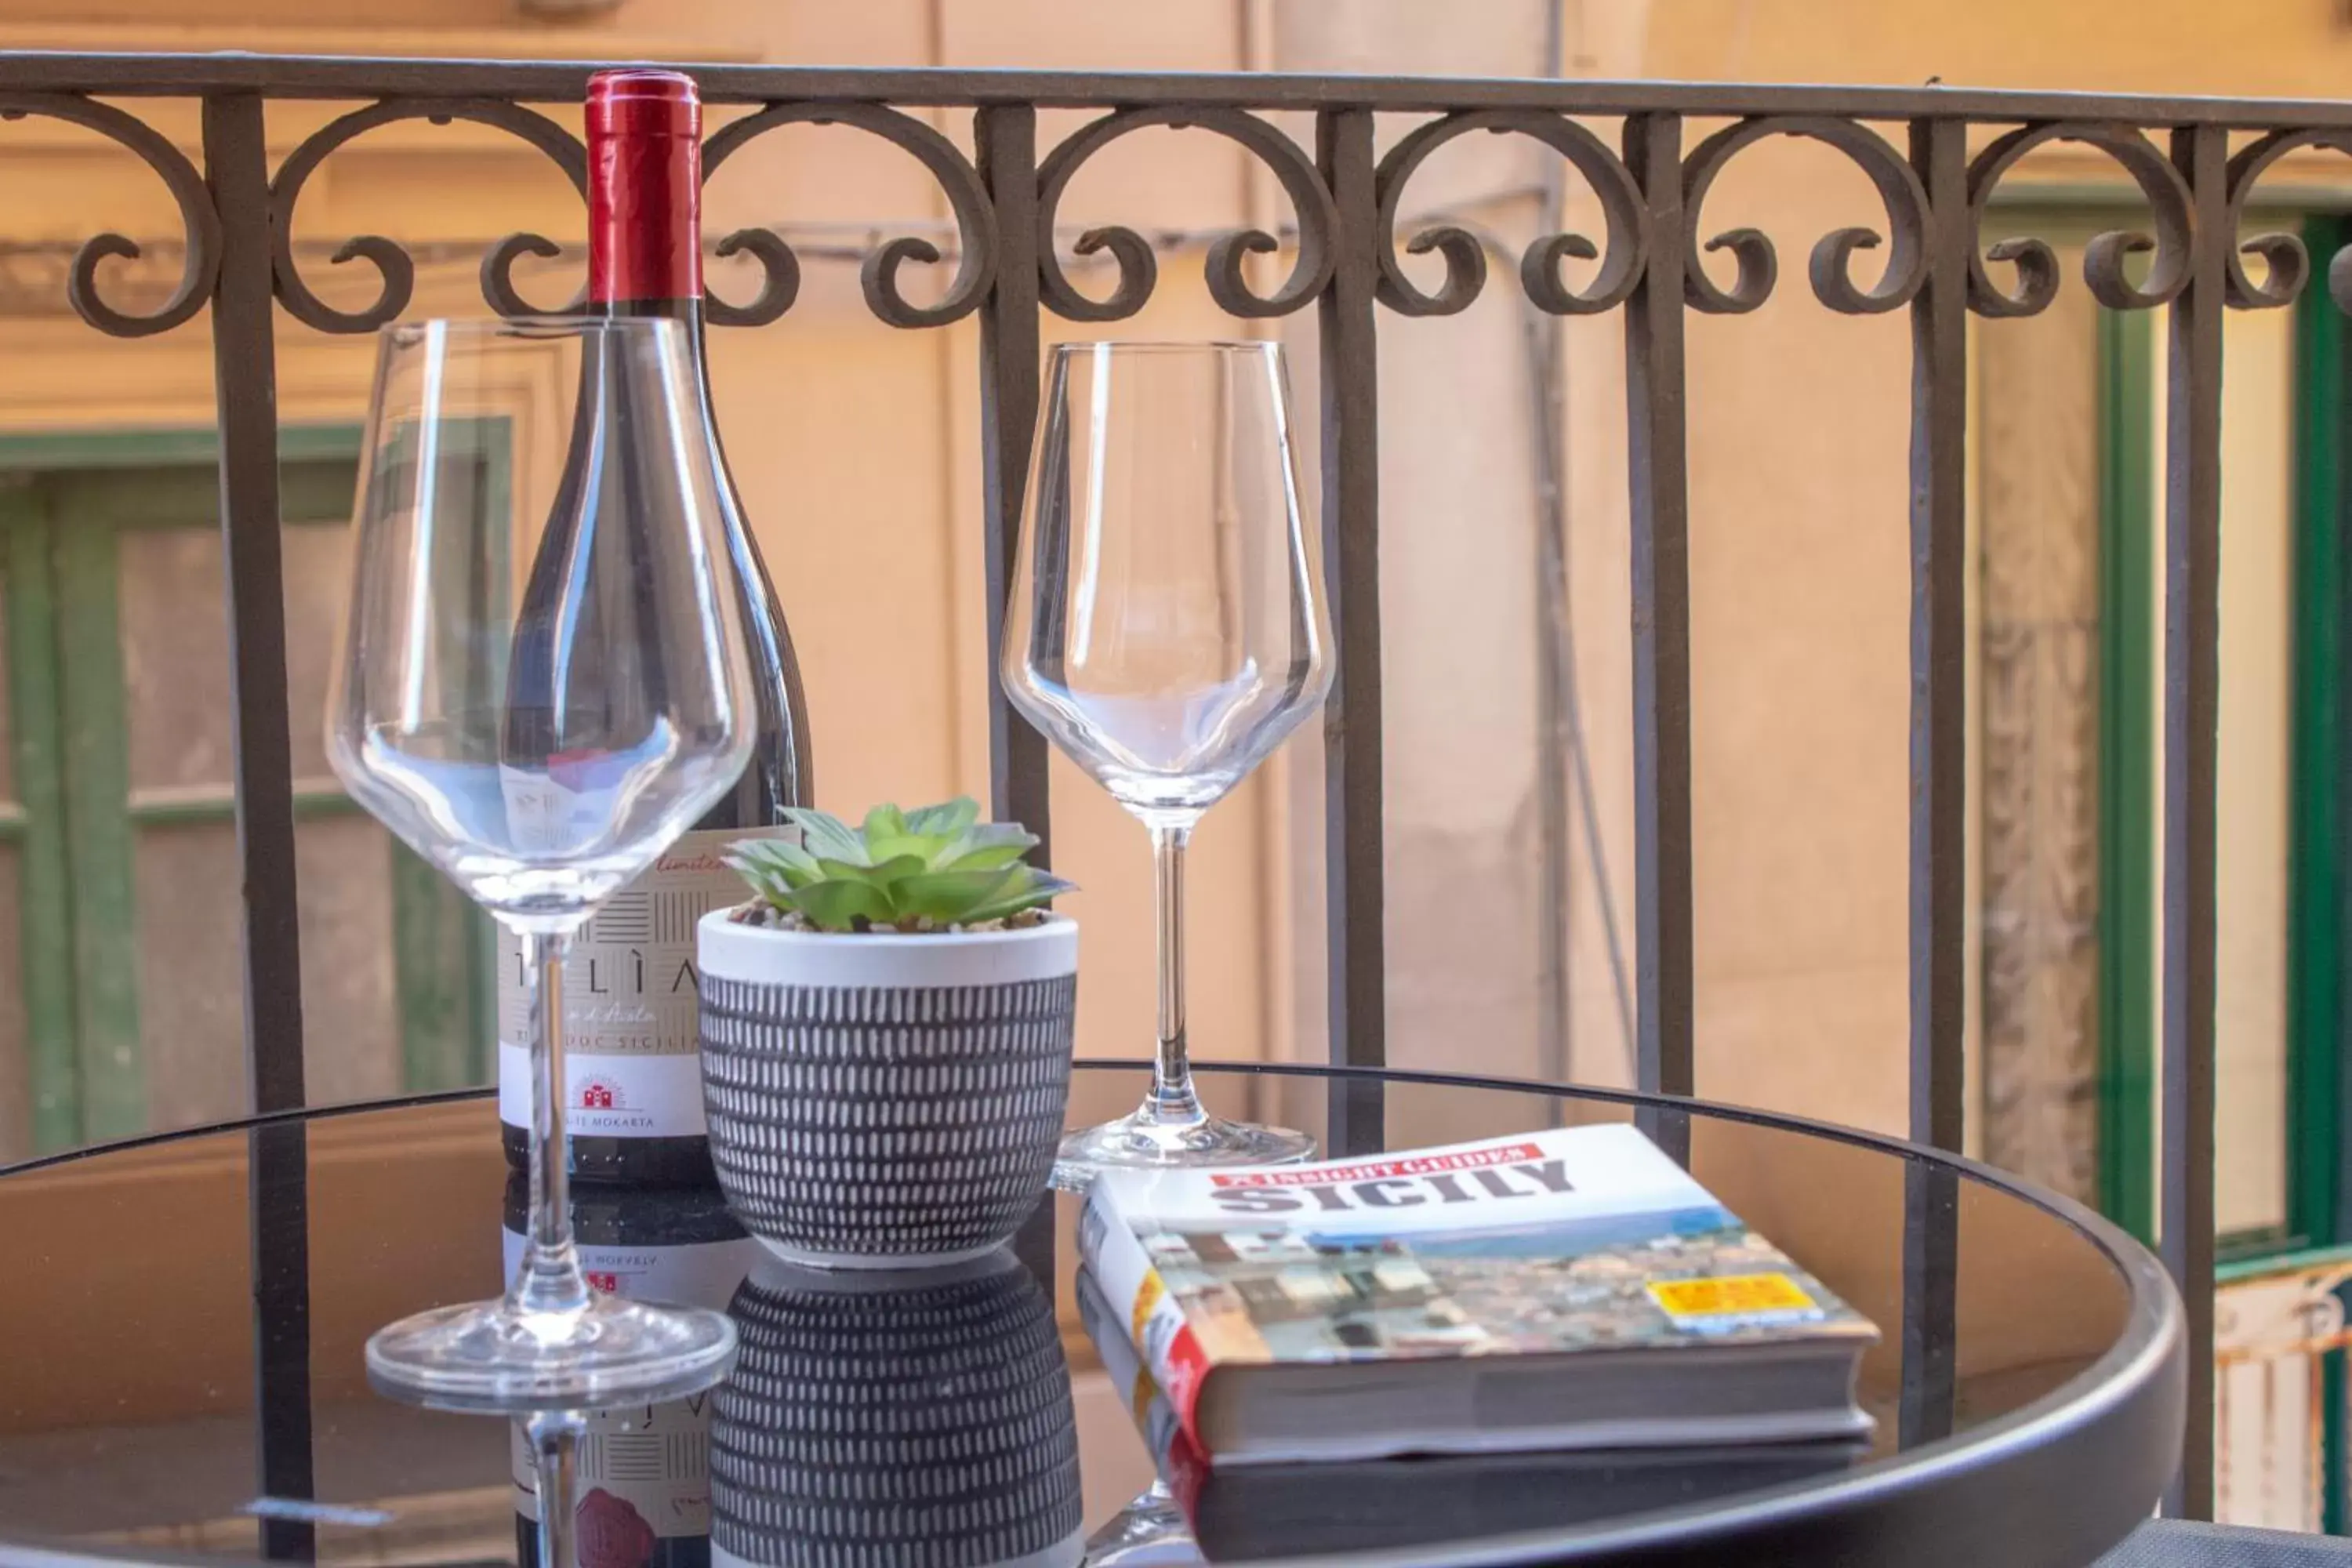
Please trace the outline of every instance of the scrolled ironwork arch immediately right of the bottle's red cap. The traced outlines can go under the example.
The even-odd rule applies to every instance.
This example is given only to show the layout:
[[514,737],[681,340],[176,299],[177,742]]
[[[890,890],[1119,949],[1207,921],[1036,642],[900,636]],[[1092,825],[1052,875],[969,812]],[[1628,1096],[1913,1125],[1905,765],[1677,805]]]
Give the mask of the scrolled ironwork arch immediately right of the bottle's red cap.
[[[997,270],[997,216],[978,172],[953,141],[922,120],[903,115],[896,108],[882,108],[880,103],[769,103],[760,113],[722,127],[703,143],[703,179],[708,181],[717,174],[720,165],[753,136],[771,132],[779,125],[849,125],[880,136],[910,153],[948,195],[957,230],[955,277],[948,282],[948,292],[936,306],[908,301],[898,289],[898,268],[908,261],[936,263],[941,261],[941,249],[929,240],[901,235],[880,244],[866,256],[866,266],[858,270],[868,310],[891,327],[946,327],[978,310]],[[800,296],[800,259],[783,235],[771,228],[739,228],[717,242],[717,254],[750,256],[760,263],[762,282],[760,294],[741,306],[710,294],[703,303],[710,322],[720,327],[764,327],[793,308],[793,301]]]

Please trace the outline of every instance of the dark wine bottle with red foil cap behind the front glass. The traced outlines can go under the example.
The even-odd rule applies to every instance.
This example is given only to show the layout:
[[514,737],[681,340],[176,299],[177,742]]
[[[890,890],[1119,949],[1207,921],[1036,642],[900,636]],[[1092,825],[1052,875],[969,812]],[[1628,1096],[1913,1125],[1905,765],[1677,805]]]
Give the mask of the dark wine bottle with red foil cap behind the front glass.
[[[701,99],[675,71],[600,71],[588,80],[588,308],[670,317],[694,341],[703,423]],[[576,470],[576,463],[572,465]],[[793,637],[743,505],[717,461],[722,522],[741,583],[739,609],[757,689],[750,766],[652,872],[616,893],[564,961],[564,1119],[572,1175],[593,1182],[708,1185],[696,1053],[694,922],[743,898],[720,863],[727,842],[774,830],[809,804],[809,715]],[[562,515],[557,498],[557,515]],[[541,550],[541,569],[562,559]],[[550,585],[553,592],[553,585]],[[522,621],[529,623],[532,583]],[[499,1121],[508,1164],[529,1164],[532,1041],[522,945],[499,933]]]

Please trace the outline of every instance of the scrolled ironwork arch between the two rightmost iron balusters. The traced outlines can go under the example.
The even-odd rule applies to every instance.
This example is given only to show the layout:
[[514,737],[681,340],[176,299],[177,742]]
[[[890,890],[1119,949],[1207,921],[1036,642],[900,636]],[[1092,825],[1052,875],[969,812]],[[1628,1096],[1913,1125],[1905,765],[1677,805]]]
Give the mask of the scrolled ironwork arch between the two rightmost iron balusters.
[[[2180,169],[2157,150],[2138,129],[2100,125],[2091,120],[2051,120],[2023,125],[2006,136],[1997,136],[1969,165],[1969,233],[1985,228],[1985,207],[1992,188],[2020,158],[2051,141],[2074,141],[2098,148],[2140,188],[2154,214],[2154,235],[2114,228],[2093,235],[2084,247],[2082,280],[2098,303],[2110,310],[2147,310],[2166,303],[2190,280],[2190,244],[2194,221],[2190,219],[2190,188]],[[2150,254],[2147,282],[2131,282],[2124,259]],[[1987,261],[2006,261],[2016,268],[2016,289],[1999,287],[1985,270]],[[1978,252],[1969,244],[1969,308],[1978,315],[2034,315],[2058,296],[2058,254],[2034,237],[1999,240]]]

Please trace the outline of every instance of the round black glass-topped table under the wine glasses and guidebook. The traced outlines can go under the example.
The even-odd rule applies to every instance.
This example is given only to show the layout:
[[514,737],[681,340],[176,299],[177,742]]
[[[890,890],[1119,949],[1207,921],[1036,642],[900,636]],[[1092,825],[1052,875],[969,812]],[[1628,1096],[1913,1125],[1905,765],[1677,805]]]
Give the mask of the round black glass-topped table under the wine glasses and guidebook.
[[[1136,1095],[1082,1063],[1073,1119]],[[1882,1331],[1867,1443],[1207,1474],[1077,1302],[1073,1199],[950,1276],[781,1279],[703,1192],[576,1192],[607,1288],[731,1305],[720,1389],[564,1441],[581,1568],[760,1563],[2089,1563],[2176,1465],[2180,1302],[2096,1215],[1983,1166],[1691,1100],[1209,1070],[1334,1154],[1635,1121]],[[489,1295],[520,1182],[482,1093],[0,1173],[0,1563],[536,1554],[520,1425],[390,1403],[367,1333]],[[1169,1474],[1162,1474],[1169,1472]]]

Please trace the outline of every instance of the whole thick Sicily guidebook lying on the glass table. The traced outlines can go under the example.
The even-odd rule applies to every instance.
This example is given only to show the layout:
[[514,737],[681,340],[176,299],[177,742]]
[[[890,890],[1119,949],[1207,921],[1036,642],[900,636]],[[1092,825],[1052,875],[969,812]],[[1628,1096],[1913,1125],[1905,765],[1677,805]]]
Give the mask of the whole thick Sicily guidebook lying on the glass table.
[[1870,1429],[1877,1328],[1630,1126],[1110,1171],[1080,1246],[1209,1465]]

